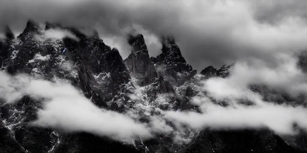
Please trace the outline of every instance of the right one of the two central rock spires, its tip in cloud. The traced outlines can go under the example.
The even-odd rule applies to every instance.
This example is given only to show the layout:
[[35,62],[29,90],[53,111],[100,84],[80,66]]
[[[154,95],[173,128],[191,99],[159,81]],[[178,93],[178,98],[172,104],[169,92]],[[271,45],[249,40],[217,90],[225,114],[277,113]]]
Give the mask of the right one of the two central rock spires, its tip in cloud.
[[156,70],[160,75],[169,76],[173,85],[181,86],[196,75],[196,70],[186,63],[173,38],[165,37],[162,40],[162,54],[157,58],[152,57],[151,60],[155,63]]

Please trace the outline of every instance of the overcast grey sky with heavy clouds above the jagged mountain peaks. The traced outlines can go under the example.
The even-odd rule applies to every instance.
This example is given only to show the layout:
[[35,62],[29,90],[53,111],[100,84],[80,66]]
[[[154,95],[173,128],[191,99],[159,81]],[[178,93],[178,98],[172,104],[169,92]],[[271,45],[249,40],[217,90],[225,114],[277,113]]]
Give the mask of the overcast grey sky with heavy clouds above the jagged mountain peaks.
[[173,35],[198,72],[249,58],[274,65],[276,52],[307,48],[305,0],[1,0],[0,14],[16,34],[29,18],[95,28],[123,59],[132,29],[144,35],[150,56],[161,53],[161,35]]

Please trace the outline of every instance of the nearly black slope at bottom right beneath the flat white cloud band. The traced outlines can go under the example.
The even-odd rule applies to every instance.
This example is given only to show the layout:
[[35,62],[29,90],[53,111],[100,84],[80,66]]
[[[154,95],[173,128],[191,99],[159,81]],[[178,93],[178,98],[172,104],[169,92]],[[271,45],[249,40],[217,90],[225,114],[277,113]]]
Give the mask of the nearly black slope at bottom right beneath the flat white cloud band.
[[[207,145],[206,145],[207,144]],[[209,145],[208,145],[209,144]],[[238,144],[240,144],[238,146]],[[267,130],[204,131],[195,142],[183,150],[189,152],[305,152],[287,144],[282,138]]]

